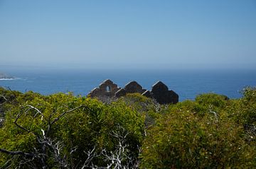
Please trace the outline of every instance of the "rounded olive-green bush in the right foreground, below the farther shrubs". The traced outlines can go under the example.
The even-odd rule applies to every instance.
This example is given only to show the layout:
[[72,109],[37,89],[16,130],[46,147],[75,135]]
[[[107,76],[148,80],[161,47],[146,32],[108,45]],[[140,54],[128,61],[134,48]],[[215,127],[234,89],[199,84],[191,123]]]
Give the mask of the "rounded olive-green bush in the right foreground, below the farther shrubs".
[[[255,148],[254,148],[255,150]],[[149,129],[142,146],[142,168],[245,168],[255,153],[242,139],[242,127],[225,117],[203,119],[171,112]]]

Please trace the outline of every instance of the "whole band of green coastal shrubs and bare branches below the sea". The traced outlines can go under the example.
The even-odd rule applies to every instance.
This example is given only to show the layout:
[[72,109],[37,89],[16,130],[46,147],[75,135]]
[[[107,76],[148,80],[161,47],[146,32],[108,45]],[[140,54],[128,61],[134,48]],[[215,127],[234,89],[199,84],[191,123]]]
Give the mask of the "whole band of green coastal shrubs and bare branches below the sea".
[[0,88],[0,168],[256,168],[256,88],[159,105]]

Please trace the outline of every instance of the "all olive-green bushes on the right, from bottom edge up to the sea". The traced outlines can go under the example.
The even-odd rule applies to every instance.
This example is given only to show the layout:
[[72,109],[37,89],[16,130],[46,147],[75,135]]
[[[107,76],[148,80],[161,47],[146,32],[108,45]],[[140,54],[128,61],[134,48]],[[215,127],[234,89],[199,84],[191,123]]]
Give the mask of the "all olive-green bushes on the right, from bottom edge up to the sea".
[[[210,93],[169,106],[169,113],[147,131],[140,167],[255,168],[255,139],[248,141],[233,118],[253,119],[255,90],[246,92],[241,101]],[[240,114],[234,112],[237,107]]]

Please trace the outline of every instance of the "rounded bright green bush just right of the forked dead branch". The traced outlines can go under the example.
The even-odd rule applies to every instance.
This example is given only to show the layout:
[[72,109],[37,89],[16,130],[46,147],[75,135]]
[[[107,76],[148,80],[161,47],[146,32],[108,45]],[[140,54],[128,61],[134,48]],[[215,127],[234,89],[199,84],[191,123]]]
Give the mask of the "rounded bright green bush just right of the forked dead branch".
[[[66,145],[67,154],[74,146],[78,149],[70,157],[78,159],[73,163],[80,163],[81,159],[86,159],[84,151],[90,151],[93,147],[96,147],[99,153],[103,148],[113,151],[118,140],[110,132],[117,132],[119,127],[123,127],[129,133],[126,142],[129,150],[134,156],[139,153],[137,146],[141,144],[144,132],[144,121],[139,113],[121,103],[103,105],[91,99],[87,99],[86,102],[89,104],[83,112],[69,114],[62,120],[61,133],[58,133]],[[103,163],[99,159],[94,161],[94,164]]]

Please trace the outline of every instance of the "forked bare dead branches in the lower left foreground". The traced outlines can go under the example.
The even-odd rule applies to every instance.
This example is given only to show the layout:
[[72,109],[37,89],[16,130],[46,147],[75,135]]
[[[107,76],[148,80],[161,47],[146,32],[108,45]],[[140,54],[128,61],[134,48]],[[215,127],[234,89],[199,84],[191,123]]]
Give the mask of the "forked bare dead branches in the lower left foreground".
[[[32,151],[31,153],[25,153],[23,151],[8,151],[8,150],[2,149],[2,148],[0,149],[0,152],[9,154],[11,156],[21,156],[21,157],[23,157],[23,160],[21,160],[19,162],[20,166],[21,165],[37,166],[37,164],[34,163],[34,160],[37,159],[38,161],[40,161],[42,168],[47,168],[46,161],[47,161],[47,158],[48,158],[48,156],[47,156],[47,152],[48,152],[47,149],[48,149],[48,150],[50,150],[50,153],[53,154],[54,160],[55,160],[56,163],[58,163],[60,168],[69,168],[70,165],[68,164],[68,161],[66,161],[65,155],[63,156],[61,154],[61,151],[62,151],[62,148],[63,148],[62,145],[60,144],[60,142],[55,143],[55,141],[52,141],[52,139],[49,136],[50,131],[52,129],[53,124],[55,124],[55,122],[60,120],[66,114],[68,114],[70,112],[73,112],[75,110],[78,110],[81,107],[85,107],[88,110],[90,110],[90,107],[87,107],[85,105],[80,105],[78,107],[75,107],[73,109],[70,109],[70,110],[67,110],[67,111],[61,113],[60,115],[58,115],[58,117],[56,117],[53,120],[52,120],[52,117],[53,117],[54,112],[51,113],[49,115],[49,117],[47,117],[47,119],[45,119],[44,118],[45,116],[43,115],[43,113],[40,110],[38,110],[38,108],[36,108],[32,105],[26,105],[26,107],[28,107],[28,109],[26,109],[25,112],[18,113],[18,115],[16,116],[16,119],[14,120],[14,124],[19,129],[22,129],[25,132],[34,134],[36,136],[38,144],[41,144],[40,148],[38,150],[36,148],[34,148],[35,151]],[[46,120],[46,122],[47,122],[46,132],[45,132],[44,129],[41,129],[42,134],[36,134],[36,133],[33,133],[30,128],[26,128],[26,127],[23,127],[21,124],[18,124],[18,120],[21,118],[21,116],[24,115],[24,113],[26,115],[26,113],[30,110],[36,110],[36,112],[34,112],[35,115],[33,115],[33,119],[35,119],[37,115],[41,115],[41,120],[43,120],[43,118],[44,118],[44,120]],[[33,120],[31,121],[31,124],[32,123],[33,123]],[[75,151],[75,150],[73,150],[73,151]],[[71,152],[71,153],[73,153],[73,152]],[[95,156],[98,156],[95,153],[95,148],[93,148],[92,151],[88,151],[87,156],[88,156],[88,158],[84,163],[85,168],[87,168],[86,166],[88,166],[87,164],[89,164],[89,163],[92,166],[93,165],[91,163],[92,158],[94,158]]]

